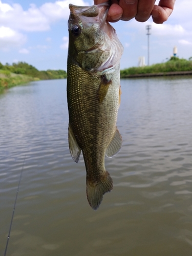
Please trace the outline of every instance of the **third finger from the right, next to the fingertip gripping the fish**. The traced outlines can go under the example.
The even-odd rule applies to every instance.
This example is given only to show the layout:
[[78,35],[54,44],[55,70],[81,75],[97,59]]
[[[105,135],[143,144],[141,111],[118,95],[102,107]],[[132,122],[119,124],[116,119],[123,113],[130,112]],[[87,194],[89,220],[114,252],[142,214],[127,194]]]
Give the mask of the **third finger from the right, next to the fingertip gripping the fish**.
[[119,0],[119,6],[123,9],[122,20],[130,20],[137,14],[138,0]]

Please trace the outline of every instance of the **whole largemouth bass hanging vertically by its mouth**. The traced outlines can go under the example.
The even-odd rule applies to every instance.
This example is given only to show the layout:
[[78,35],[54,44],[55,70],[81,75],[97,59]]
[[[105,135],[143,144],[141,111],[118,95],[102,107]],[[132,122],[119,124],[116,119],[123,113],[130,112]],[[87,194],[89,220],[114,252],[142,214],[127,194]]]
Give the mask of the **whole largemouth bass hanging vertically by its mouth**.
[[116,122],[123,47],[115,29],[106,21],[108,3],[70,4],[69,9],[69,150],[76,163],[82,151],[87,173],[87,199],[97,210],[103,195],[113,189],[104,158],[116,155],[122,145]]

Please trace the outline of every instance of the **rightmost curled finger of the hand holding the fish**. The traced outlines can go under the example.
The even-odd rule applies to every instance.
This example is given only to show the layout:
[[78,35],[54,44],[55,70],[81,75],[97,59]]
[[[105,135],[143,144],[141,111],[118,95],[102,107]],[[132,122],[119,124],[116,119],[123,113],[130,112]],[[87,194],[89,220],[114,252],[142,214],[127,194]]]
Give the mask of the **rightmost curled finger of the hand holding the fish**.
[[152,18],[153,21],[157,24],[164,23],[170,14],[172,14],[174,9],[175,0],[161,0],[159,2],[159,6],[155,5],[152,10]]

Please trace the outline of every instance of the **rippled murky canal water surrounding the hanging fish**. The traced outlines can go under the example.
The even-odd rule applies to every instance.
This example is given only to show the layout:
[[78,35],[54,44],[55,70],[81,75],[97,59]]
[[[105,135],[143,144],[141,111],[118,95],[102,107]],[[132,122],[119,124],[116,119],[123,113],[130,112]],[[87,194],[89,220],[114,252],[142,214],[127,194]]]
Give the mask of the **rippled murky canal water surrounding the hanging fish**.
[[121,80],[114,188],[97,211],[68,148],[66,80],[0,95],[0,253],[191,256],[192,78]]

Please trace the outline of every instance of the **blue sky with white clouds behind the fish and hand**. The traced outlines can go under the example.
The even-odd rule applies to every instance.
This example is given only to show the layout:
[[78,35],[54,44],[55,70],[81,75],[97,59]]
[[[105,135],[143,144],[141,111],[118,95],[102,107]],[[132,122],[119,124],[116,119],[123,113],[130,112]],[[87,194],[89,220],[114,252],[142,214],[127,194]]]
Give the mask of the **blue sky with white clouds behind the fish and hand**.
[[[0,62],[25,61],[38,70],[67,68],[69,3],[92,5],[91,0],[0,0]],[[156,1],[156,3],[158,3]],[[167,22],[135,19],[112,25],[124,47],[121,69],[147,62],[146,25],[151,25],[150,64],[166,61],[177,46],[178,56],[192,56],[191,0],[176,0]]]

